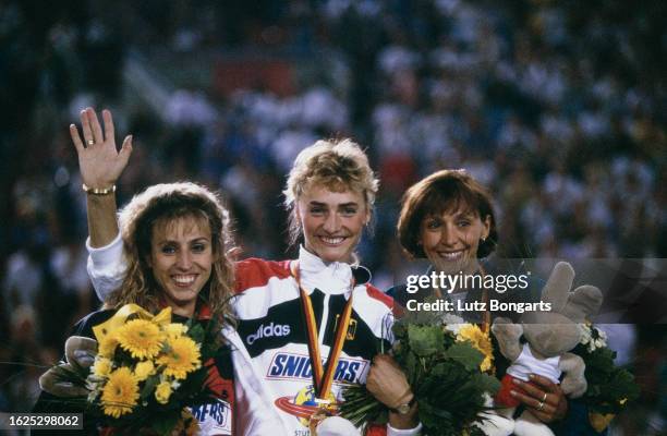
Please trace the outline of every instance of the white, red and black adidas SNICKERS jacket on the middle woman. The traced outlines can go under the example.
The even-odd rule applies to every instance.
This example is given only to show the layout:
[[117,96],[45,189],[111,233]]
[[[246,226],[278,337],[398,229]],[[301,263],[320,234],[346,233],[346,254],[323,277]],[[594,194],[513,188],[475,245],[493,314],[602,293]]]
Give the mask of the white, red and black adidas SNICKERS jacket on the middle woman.
[[[124,274],[119,241],[120,238],[107,247],[90,251],[88,272],[100,299],[119,286]],[[232,359],[238,434],[310,435],[306,416],[314,405],[313,382],[299,287],[290,263],[250,258],[237,264],[238,294],[232,304],[238,335],[230,335],[231,329],[225,334],[235,348]],[[352,268],[345,263],[327,265],[303,247],[299,269],[301,283],[313,303],[324,359],[333,341],[337,317],[350,292],[354,293],[348,337],[333,375],[332,393],[340,399],[345,384],[365,382],[380,343],[386,350],[391,346],[393,301],[367,282],[369,274],[365,268]],[[353,278],[356,284],[351,290]],[[266,428],[270,422],[270,433],[248,427]],[[421,424],[402,431],[388,426],[387,435],[416,435],[420,429]]]

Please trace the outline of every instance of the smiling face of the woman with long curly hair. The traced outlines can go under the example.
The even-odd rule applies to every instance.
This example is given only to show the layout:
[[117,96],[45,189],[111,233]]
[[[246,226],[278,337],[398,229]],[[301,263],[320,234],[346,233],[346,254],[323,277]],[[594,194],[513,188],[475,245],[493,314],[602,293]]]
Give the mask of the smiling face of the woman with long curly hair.
[[210,278],[214,254],[208,222],[194,217],[153,226],[148,264],[173,313],[192,316]]

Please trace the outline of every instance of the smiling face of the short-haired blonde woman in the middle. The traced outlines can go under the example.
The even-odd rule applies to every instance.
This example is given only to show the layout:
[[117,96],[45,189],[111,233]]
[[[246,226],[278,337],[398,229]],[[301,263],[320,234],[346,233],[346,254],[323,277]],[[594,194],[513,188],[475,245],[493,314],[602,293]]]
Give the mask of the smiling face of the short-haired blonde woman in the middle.
[[371,214],[362,193],[315,185],[298,199],[296,218],[307,251],[326,263],[351,262]]

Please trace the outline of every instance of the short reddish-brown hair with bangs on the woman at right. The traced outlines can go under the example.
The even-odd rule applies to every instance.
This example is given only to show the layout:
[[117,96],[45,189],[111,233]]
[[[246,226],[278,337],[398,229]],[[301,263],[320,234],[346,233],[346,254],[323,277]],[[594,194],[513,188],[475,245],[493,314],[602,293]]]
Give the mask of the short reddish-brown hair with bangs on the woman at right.
[[430,215],[442,215],[447,210],[464,207],[484,220],[490,218],[490,229],[486,240],[477,247],[477,257],[488,256],[498,242],[496,218],[490,194],[464,170],[441,170],[414,185],[403,195],[398,222],[398,237],[403,251],[412,258],[426,257],[419,243],[422,221]]

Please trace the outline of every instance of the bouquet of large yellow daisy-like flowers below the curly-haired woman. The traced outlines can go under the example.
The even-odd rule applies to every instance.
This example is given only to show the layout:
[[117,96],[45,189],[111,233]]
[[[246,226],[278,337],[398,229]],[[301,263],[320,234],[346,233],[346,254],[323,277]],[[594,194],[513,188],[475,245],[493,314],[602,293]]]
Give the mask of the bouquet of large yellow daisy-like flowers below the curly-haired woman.
[[213,396],[202,363],[220,347],[217,329],[192,319],[172,323],[171,307],[153,316],[126,304],[93,331],[97,354],[90,366],[68,359],[70,364],[46,374],[73,386],[78,395],[68,403],[78,405],[102,427],[131,434],[150,429],[159,435],[174,429],[196,434],[197,421],[186,407],[208,402]]

